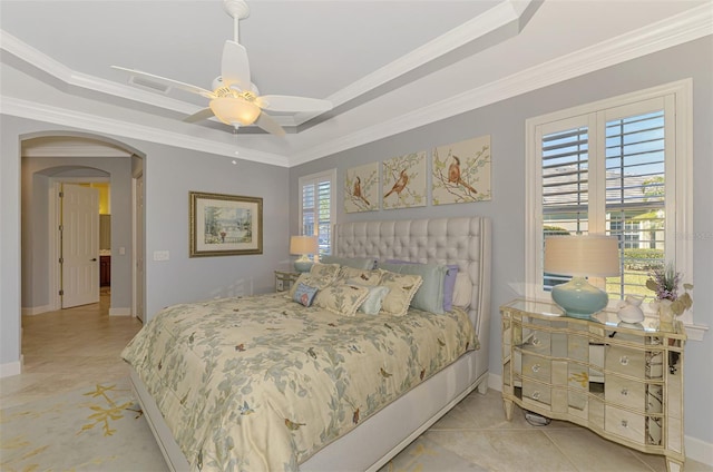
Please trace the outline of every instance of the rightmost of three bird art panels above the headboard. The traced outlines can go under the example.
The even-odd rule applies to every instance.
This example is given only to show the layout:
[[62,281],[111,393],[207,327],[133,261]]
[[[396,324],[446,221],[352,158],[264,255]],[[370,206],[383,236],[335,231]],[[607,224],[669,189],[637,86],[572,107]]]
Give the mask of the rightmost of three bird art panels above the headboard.
[[433,205],[490,200],[490,136],[434,148],[431,173]]

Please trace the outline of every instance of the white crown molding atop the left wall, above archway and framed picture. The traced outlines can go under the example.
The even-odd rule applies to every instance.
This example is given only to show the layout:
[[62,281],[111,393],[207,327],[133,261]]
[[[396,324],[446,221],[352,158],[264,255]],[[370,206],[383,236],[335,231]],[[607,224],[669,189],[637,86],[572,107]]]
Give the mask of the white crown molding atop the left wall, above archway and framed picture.
[[[287,158],[284,156],[241,148],[236,145],[216,142],[211,139],[188,136],[180,132],[168,131],[102,116],[51,107],[14,97],[1,97],[0,110],[2,115],[79,128],[81,130],[100,132],[108,136],[140,139],[149,142],[193,149],[222,157],[238,158],[241,160],[251,160],[273,166],[289,166]],[[235,155],[236,150],[238,151],[237,156]]]

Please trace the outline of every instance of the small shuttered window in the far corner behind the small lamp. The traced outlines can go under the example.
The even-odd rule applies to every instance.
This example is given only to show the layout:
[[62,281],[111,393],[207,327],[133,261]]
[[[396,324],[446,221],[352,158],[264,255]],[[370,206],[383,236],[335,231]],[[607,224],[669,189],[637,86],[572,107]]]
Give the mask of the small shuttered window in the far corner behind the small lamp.
[[300,177],[300,228],[316,235],[320,256],[332,254],[336,169]]

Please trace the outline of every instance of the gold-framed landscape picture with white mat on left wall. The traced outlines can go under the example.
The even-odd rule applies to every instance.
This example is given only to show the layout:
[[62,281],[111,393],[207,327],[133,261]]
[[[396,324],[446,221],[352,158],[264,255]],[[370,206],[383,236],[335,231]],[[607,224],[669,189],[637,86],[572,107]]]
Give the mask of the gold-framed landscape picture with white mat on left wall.
[[189,191],[189,257],[263,254],[263,199]]

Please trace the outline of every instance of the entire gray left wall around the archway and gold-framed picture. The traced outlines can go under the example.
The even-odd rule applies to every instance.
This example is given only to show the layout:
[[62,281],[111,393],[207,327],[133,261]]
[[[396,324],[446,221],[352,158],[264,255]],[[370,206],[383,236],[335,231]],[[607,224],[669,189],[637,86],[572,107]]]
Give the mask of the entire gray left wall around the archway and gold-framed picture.
[[[21,307],[21,140],[37,135],[81,130],[2,116],[0,129],[0,367],[12,372],[20,361]],[[90,135],[85,135],[90,136]],[[96,136],[102,139],[101,136]],[[274,287],[273,269],[289,264],[289,200],[286,168],[231,159],[136,139],[108,136],[144,155],[146,220],[146,318],[180,302],[227,295],[265,293]],[[113,159],[113,158],[102,158]],[[86,161],[85,161],[86,163]],[[97,164],[106,167],[108,164]],[[130,171],[130,164],[126,164]],[[95,166],[96,167],[96,166]],[[209,191],[263,198],[263,254],[188,257],[188,191]],[[113,198],[114,205],[118,204]],[[126,222],[130,227],[130,222]],[[116,228],[114,228],[116,229]],[[27,244],[25,240],[22,245]],[[125,243],[113,242],[115,247]],[[126,242],[127,254],[130,238]],[[154,250],[169,250],[170,259],[154,262]],[[128,257],[127,257],[128,258]],[[31,283],[31,282],[28,282]],[[130,288],[129,288],[130,289]],[[41,301],[39,303],[42,303]],[[1,372],[0,372],[1,374]]]

